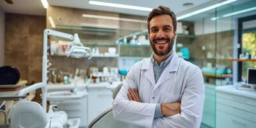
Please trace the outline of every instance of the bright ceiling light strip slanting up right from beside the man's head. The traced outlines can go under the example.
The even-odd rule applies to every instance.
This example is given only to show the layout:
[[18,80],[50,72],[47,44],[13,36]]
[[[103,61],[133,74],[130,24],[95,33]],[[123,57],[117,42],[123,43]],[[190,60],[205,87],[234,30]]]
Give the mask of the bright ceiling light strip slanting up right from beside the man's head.
[[185,19],[185,18],[187,18],[187,17],[191,17],[192,15],[196,15],[196,14],[198,14],[198,13],[202,13],[202,12],[205,12],[205,11],[208,11],[208,10],[212,10],[212,9],[214,9],[214,8],[218,8],[218,7],[220,7],[220,6],[223,6],[223,5],[225,5],[225,4],[232,3],[232,2],[234,2],[234,1],[237,1],[237,0],[227,0],[227,1],[223,1],[223,2],[221,2],[221,3],[216,3],[216,4],[213,4],[213,5],[211,5],[211,6],[207,6],[207,7],[205,7],[205,8],[202,8],[202,9],[200,9],[200,10],[196,10],[196,11],[191,12],[191,13],[186,13],[185,15],[181,15],[181,16],[177,17],[177,20]]

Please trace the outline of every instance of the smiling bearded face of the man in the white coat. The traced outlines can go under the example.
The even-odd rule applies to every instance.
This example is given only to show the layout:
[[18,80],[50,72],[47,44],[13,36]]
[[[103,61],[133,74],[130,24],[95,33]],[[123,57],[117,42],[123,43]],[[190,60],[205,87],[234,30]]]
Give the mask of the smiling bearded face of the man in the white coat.
[[172,51],[176,31],[170,15],[157,15],[150,20],[148,38],[154,54],[165,56]]

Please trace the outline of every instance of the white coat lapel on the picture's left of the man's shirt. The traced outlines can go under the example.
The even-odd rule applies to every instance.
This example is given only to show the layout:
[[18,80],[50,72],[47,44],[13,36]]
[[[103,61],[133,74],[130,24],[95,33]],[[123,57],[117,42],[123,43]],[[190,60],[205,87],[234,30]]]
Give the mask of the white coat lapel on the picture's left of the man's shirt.
[[153,63],[152,57],[147,58],[141,67],[141,70],[145,70],[145,77],[147,77],[148,81],[154,86],[156,84],[155,77],[154,77],[154,70],[153,70]]

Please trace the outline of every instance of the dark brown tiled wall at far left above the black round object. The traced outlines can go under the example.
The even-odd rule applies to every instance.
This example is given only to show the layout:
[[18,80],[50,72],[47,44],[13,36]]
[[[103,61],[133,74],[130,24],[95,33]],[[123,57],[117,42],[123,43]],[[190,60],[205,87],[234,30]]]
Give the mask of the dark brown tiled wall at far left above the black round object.
[[5,13],[4,65],[17,67],[29,83],[42,81],[45,17]]

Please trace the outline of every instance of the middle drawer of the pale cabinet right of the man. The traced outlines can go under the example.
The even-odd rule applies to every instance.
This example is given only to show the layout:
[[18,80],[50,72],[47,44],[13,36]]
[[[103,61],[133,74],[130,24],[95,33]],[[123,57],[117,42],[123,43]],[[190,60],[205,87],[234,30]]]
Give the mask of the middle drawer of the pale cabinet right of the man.
[[[244,120],[248,120],[250,122],[255,122],[256,123],[256,114],[250,113],[248,111],[243,111],[241,109],[237,109],[231,106],[225,106],[223,104],[217,103],[216,106],[217,111],[223,111],[225,113],[228,113],[230,115],[237,116],[239,118],[243,118]],[[255,109],[256,110],[256,109]]]

